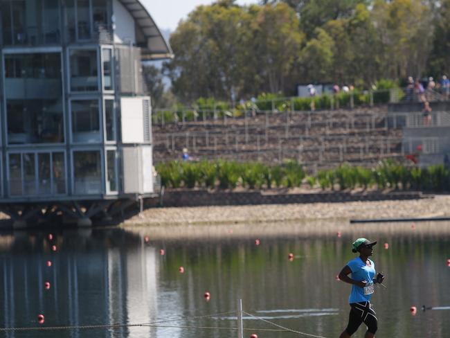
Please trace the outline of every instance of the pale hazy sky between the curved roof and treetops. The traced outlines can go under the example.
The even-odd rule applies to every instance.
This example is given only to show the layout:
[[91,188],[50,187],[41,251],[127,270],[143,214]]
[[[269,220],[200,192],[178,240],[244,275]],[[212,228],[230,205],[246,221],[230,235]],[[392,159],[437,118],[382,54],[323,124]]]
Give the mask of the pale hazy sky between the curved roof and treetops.
[[[141,0],[160,29],[175,30],[180,19],[199,5],[208,5],[213,0]],[[240,5],[258,3],[258,0],[237,0]]]

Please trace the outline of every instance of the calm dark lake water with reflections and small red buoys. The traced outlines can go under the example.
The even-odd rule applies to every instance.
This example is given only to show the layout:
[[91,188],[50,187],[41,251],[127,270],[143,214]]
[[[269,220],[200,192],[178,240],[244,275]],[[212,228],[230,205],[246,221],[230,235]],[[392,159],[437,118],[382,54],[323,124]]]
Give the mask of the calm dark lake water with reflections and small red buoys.
[[[114,228],[2,233],[2,328],[152,326],[8,331],[0,337],[237,337],[229,330],[237,326],[237,299],[255,317],[319,337],[339,337],[348,320],[350,285],[335,277],[354,258],[350,242],[363,233],[378,240],[372,260],[386,275],[387,288],[376,288],[372,298],[377,337],[450,337],[450,310],[420,310],[422,305],[450,305],[450,224],[426,224],[426,229],[404,224],[399,232],[377,224],[341,225],[341,237],[333,227],[323,233],[291,231],[296,225],[282,228],[224,225],[207,236],[161,228],[158,233]],[[200,233],[209,231],[203,229]],[[288,260],[289,253],[294,260]],[[205,292],[210,292],[209,301]],[[412,305],[417,306],[415,316]],[[37,323],[37,314],[44,314],[44,324]],[[307,337],[261,330],[280,328],[248,315],[244,328],[251,329],[244,337]],[[354,337],[363,337],[364,331],[362,325]]]

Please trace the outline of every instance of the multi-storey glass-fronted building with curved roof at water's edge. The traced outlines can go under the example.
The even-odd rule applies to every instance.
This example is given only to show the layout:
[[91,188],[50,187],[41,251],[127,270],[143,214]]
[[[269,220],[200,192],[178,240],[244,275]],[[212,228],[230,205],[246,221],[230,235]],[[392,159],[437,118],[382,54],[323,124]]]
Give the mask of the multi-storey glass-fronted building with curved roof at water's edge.
[[91,224],[154,193],[141,61],[170,57],[138,0],[0,0],[0,208]]

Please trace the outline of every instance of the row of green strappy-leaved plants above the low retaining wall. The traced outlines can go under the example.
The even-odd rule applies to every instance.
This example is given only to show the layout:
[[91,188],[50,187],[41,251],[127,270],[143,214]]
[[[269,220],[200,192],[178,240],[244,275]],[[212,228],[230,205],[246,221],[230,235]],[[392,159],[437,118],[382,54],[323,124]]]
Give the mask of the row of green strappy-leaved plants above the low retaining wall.
[[442,165],[418,168],[395,161],[382,161],[373,168],[343,164],[307,175],[302,164],[286,161],[278,165],[236,161],[169,161],[156,170],[168,188],[220,188],[237,186],[249,189],[294,188],[309,186],[323,190],[450,190],[450,172]]

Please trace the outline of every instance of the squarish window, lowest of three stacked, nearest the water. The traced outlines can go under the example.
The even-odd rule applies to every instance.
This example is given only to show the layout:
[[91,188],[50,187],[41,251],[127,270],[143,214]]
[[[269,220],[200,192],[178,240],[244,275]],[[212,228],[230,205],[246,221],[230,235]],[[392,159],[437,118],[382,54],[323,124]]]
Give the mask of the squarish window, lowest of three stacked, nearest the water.
[[73,152],[73,189],[76,195],[102,192],[100,151]]

